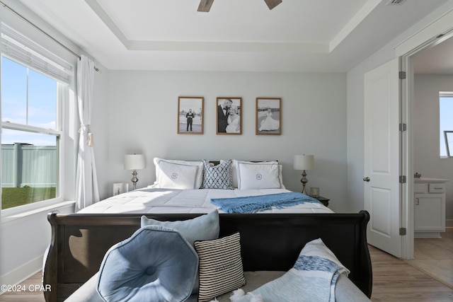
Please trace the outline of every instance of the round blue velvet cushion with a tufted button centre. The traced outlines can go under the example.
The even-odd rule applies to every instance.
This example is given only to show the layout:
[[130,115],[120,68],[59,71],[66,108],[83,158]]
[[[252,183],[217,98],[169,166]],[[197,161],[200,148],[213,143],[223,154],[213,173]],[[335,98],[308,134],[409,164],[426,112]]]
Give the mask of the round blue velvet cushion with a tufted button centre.
[[96,291],[104,301],[185,301],[198,256],[173,228],[144,226],[105,253]]

